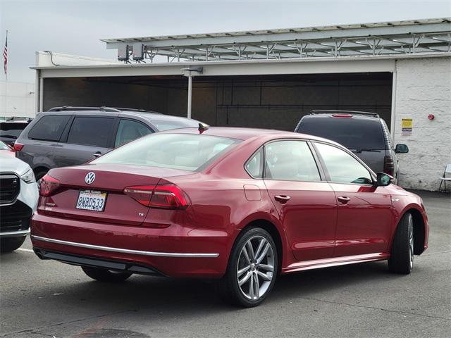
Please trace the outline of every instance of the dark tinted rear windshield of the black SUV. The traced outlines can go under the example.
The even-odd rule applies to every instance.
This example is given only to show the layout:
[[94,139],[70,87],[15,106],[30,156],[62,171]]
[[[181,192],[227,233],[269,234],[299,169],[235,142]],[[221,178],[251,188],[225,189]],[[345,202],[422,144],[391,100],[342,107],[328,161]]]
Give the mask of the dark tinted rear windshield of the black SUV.
[[385,149],[381,123],[376,119],[304,118],[297,132],[331,139],[347,149]]

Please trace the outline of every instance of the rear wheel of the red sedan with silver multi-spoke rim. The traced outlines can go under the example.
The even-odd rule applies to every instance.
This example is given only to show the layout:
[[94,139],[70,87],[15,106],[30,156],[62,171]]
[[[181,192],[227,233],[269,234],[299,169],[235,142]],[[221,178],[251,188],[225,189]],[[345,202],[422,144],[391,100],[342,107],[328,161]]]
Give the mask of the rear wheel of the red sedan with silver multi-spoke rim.
[[271,235],[260,227],[243,230],[230,253],[218,292],[227,303],[252,308],[262,303],[276,282],[278,252]]

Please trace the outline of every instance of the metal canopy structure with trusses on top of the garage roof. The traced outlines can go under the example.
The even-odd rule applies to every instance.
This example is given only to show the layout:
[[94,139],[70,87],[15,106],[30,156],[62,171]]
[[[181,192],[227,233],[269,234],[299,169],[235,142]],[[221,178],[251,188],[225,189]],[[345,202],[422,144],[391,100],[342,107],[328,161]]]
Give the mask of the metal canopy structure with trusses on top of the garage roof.
[[125,63],[438,54],[451,51],[451,18],[101,41]]

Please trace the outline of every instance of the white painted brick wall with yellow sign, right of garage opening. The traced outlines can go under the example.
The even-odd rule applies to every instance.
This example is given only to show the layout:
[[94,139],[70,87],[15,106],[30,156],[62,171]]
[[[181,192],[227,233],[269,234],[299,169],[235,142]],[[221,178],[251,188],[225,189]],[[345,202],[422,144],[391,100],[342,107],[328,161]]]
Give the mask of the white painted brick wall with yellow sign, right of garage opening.
[[[411,136],[402,136],[403,118],[413,120]],[[450,57],[397,61],[394,137],[394,144],[409,146],[398,156],[400,185],[437,190],[445,163],[451,163]]]

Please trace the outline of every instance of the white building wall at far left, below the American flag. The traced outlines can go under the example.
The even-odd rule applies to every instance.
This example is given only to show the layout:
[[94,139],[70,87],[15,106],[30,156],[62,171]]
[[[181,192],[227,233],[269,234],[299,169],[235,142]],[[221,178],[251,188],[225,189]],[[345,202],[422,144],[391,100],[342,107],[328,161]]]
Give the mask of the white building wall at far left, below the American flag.
[[35,117],[35,84],[0,82],[0,118]]

